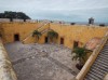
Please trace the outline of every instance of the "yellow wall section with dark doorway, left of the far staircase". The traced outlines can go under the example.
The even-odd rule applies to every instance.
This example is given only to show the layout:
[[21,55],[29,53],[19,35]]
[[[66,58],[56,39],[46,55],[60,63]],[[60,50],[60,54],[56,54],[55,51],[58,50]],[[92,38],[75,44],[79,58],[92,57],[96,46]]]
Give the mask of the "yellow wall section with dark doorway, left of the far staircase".
[[40,26],[39,23],[0,23],[3,41],[13,42],[14,35],[19,35],[19,40],[25,39],[32,30]]

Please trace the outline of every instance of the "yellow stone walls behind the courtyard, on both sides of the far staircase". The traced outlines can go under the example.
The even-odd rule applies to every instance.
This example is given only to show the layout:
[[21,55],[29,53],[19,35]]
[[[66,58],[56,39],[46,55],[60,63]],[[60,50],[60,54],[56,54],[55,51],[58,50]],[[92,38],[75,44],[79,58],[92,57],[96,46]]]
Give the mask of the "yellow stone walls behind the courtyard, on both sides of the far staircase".
[[[30,32],[37,29],[41,23],[0,23],[0,30],[3,34],[3,41],[14,42],[14,35],[19,34],[21,41],[24,40]],[[85,26],[85,25],[64,25],[64,24],[50,24],[48,25],[51,29],[58,32],[59,37],[57,39],[57,43],[59,44],[60,38],[64,38],[64,45],[68,48],[72,48],[73,41],[79,41],[80,45],[84,45],[90,39],[94,37],[104,37],[106,31],[108,31],[107,27],[98,27],[98,26]],[[48,27],[46,26],[46,27]],[[42,35],[39,40],[39,43],[44,43],[44,38],[46,37],[46,32]],[[28,42],[35,42],[35,38],[30,37]]]

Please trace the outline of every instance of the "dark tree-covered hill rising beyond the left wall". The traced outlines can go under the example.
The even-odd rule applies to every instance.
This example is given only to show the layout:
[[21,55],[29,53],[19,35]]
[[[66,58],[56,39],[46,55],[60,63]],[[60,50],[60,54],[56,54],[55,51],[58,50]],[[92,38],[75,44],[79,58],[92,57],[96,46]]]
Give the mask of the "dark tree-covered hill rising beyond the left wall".
[[23,12],[12,11],[5,11],[4,13],[0,13],[0,18],[10,18],[11,22],[13,21],[13,18],[30,19],[30,17]]

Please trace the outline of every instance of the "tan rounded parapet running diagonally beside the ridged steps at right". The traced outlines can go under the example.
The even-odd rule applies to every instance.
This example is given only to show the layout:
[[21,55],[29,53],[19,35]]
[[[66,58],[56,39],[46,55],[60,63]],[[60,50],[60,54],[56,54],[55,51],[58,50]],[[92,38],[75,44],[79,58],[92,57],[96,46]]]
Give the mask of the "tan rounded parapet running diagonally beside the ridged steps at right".
[[103,49],[104,44],[106,43],[107,39],[108,39],[108,31],[105,35],[105,37],[102,39],[102,42],[97,45],[96,50],[89,57],[89,59],[86,61],[85,65],[81,69],[81,71],[76,77],[77,80],[83,80],[84,79],[84,77],[89,72],[91,66],[93,65],[93,63],[95,62],[96,57],[98,56],[100,50]]

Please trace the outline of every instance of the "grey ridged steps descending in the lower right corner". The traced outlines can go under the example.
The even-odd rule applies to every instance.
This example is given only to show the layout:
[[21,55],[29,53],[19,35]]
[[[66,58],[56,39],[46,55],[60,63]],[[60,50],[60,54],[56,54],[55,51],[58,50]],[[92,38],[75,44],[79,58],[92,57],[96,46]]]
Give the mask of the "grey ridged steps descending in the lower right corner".
[[108,74],[108,38],[84,80],[104,80]]

